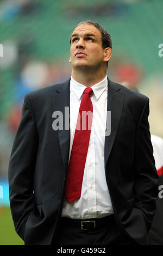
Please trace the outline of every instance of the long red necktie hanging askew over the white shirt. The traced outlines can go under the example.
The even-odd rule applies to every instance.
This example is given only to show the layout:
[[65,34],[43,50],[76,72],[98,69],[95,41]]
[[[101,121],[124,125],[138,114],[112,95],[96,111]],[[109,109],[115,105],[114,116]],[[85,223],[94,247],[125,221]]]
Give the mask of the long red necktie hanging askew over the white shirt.
[[65,190],[65,197],[69,203],[80,198],[82,190],[83,174],[92,125],[93,106],[90,99],[92,93],[91,88],[86,88],[80,103],[77,126],[68,164]]

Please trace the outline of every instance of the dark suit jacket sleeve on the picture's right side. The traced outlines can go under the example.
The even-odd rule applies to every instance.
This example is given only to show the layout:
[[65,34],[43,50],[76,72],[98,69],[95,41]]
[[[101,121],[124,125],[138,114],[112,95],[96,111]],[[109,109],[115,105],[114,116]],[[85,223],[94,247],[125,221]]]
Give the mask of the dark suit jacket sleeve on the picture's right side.
[[136,131],[134,159],[135,208],[142,210],[147,231],[155,214],[155,200],[158,195],[158,174],[153,157],[148,115],[149,99],[147,98]]

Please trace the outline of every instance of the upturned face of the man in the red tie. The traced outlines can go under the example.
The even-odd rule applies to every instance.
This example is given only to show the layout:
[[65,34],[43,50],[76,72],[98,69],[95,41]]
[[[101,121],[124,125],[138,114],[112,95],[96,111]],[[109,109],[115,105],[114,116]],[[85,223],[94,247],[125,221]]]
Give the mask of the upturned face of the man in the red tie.
[[101,32],[93,25],[82,24],[71,35],[72,68],[98,67],[104,64]]

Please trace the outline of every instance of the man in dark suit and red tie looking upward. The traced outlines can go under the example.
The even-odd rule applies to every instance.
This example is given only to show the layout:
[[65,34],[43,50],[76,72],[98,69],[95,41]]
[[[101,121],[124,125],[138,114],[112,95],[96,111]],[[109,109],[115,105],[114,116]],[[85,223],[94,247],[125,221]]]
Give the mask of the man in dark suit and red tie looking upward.
[[158,193],[149,100],[106,77],[111,37],[98,23],[79,23],[70,43],[71,80],[24,99],[9,163],[15,229],[26,245],[146,244]]

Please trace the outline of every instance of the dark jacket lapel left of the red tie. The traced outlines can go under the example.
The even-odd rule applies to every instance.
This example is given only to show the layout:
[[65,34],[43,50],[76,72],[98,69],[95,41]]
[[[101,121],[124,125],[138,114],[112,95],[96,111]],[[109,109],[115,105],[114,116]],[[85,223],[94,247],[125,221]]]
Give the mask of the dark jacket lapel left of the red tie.
[[63,129],[58,130],[58,138],[66,170],[70,150],[70,80],[59,84],[55,89],[54,95],[52,95],[52,105],[53,112],[59,111],[63,117]]

